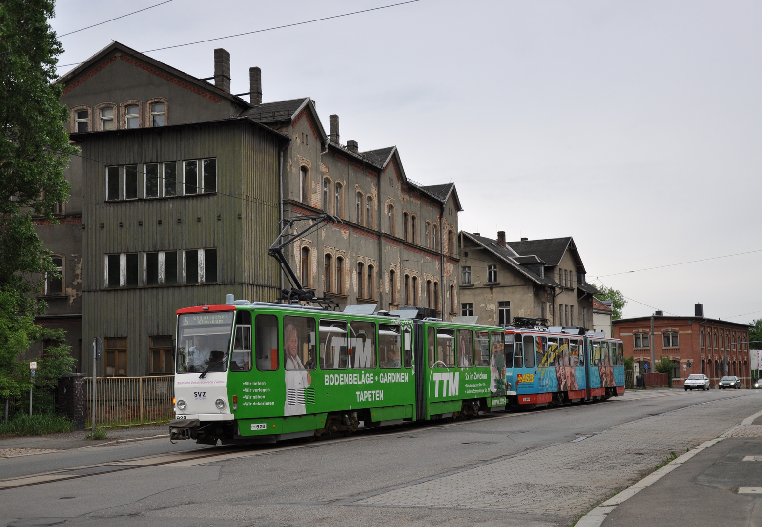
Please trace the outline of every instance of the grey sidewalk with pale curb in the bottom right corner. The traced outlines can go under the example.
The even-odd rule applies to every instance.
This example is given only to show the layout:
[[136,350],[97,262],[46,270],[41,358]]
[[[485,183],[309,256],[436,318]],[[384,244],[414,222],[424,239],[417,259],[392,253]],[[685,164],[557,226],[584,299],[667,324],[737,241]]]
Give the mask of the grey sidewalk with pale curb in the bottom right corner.
[[620,503],[602,525],[762,525],[762,417]]

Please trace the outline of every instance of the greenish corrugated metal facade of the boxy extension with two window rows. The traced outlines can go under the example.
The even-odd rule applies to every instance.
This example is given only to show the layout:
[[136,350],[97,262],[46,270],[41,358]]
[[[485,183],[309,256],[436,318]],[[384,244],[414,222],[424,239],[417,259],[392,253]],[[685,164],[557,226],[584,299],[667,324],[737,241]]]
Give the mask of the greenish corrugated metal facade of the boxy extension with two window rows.
[[[149,337],[173,335],[175,311],[194,303],[274,300],[277,262],[267,248],[280,219],[280,139],[248,120],[80,136],[85,225],[82,338],[127,337],[126,375],[149,373]],[[105,201],[106,167],[216,158],[217,193]],[[142,171],[142,166],[139,166]],[[102,226],[101,226],[102,225]],[[217,282],[105,288],[107,254],[216,248]],[[91,361],[87,361],[88,374]],[[98,363],[104,375],[104,359]]]

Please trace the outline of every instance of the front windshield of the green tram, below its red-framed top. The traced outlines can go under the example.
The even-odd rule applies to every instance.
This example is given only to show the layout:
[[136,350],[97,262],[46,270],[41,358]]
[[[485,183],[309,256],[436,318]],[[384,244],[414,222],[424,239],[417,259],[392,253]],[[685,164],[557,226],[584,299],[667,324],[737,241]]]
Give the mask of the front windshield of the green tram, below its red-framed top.
[[234,311],[184,313],[178,320],[177,372],[224,372]]

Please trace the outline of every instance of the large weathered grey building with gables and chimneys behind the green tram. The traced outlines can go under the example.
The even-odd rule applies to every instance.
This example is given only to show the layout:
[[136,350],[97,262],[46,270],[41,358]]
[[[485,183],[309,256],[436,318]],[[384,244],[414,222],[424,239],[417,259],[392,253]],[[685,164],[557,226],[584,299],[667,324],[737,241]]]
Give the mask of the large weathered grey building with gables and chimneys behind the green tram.
[[454,185],[408,180],[395,147],[342,144],[309,97],[263,104],[249,75],[250,93],[230,94],[225,50],[203,79],[112,43],[59,80],[82,149],[67,175],[82,241],[65,252],[82,259],[78,338],[104,339],[98,375],[171,372],[178,308],[277,299],[267,248],[292,216],[341,219],[287,251],[317,295],[455,313]]

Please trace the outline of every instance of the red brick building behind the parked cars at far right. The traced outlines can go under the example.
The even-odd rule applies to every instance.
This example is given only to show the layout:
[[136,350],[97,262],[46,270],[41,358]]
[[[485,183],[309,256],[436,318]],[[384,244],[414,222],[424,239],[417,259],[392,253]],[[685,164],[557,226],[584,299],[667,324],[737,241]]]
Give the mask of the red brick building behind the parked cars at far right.
[[[703,306],[696,305],[696,311],[703,312]],[[702,316],[656,315],[615,320],[613,335],[614,338],[622,339],[625,356],[634,357],[641,373],[645,372],[646,363],[648,371],[654,371],[651,363],[652,346],[656,361],[661,356],[674,360],[674,386],[682,386],[684,379],[691,373],[703,373],[709,377],[712,386],[717,385],[722,375],[737,375],[745,387],[750,385],[749,345],[735,344],[749,340],[747,324]],[[728,344],[728,366],[723,374],[722,360]]]

